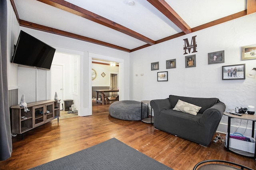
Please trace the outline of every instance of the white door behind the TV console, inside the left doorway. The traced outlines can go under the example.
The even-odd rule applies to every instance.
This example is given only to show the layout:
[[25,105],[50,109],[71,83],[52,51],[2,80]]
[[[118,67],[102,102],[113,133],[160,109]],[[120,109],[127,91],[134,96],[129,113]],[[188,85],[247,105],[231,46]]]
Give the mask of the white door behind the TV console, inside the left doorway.
[[54,99],[55,92],[60,100],[60,110],[63,110],[63,66],[52,65],[51,66],[51,89],[52,99]]

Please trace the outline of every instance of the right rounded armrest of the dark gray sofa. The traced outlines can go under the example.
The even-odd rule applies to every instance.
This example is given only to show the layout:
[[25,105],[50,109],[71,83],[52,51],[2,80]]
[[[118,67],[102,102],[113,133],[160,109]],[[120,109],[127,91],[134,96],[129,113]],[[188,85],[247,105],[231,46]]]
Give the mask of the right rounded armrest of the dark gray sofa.
[[222,114],[226,109],[226,105],[222,102],[218,102],[214,104],[209,109],[206,109],[201,117],[200,123],[203,125],[211,125],[216,123],[220,123],[220,119],[222,118]]

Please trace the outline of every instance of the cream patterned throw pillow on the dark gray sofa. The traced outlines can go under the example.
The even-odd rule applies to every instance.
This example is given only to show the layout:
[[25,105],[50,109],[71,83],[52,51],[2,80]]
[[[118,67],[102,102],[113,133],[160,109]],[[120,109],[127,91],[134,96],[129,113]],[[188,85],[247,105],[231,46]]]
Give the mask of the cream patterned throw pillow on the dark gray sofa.
[[182,111],[184,113],[189,113],[191,115],[197,115],[198,111],[201,109],[202,107],[193,105],[191,103],[187,103],[185,101],[181,101],[180,99],[178,100],[177,104],[175,105],[175,107],[173,108],[173,110],[175,111]]

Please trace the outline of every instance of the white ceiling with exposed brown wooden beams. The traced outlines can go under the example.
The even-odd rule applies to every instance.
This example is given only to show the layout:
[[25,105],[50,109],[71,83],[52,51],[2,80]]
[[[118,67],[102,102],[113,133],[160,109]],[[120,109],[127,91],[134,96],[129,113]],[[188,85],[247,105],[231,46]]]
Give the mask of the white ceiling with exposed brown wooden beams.
[[10,0],[22,27],[132,52],[256,12],[256,0]]

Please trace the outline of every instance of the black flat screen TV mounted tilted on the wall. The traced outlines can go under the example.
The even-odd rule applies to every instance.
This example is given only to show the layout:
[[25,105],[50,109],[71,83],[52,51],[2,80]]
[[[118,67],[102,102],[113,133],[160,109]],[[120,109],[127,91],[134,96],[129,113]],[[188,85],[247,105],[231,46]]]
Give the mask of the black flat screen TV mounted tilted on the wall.
[[11,62],[50,70],[55,50],[50,45],[24,31],[20,31],[17,44],[14,45],[14,55]]

